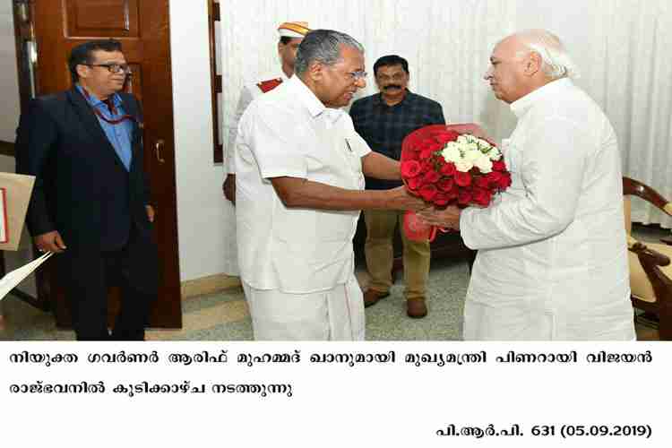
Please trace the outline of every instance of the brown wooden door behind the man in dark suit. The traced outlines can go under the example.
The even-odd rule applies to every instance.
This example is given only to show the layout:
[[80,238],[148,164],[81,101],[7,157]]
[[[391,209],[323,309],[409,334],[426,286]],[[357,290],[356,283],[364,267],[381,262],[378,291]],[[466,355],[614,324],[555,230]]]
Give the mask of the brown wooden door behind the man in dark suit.
[[[71,86],[67,57],[72,47],[90,39],[120,40],[133,70],[127,90],[142,101],[144,168],[151,178],[159,243],[159,300],[152,327],[181,328],[177,202],[170,71],[168,0],[33,0],[32,17],[38,48],[37,94]],[[47,276],[42,293],[56,306],[56,323],[68,326],[70,316],[56,276]],[[118,293],[110,297],[110,319],[118,309]]]

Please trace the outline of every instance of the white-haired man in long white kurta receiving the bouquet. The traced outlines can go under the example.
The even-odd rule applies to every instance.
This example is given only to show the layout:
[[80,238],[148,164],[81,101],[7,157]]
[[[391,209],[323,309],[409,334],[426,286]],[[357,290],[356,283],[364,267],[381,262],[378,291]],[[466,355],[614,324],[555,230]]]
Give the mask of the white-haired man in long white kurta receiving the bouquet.
[[553,34],[514,34],[490,62],[518,117],[502,142],[513,183],[487,209],[421,212],[478,249],[464,339],[634,340],[614,129]]

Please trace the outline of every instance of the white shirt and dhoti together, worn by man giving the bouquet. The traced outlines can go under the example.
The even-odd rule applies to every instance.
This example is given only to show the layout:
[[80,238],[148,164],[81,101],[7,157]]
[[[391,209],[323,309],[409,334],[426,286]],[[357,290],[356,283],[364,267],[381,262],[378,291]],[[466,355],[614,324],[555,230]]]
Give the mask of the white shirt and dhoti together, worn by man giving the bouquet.
[[[353,288],[359,211],[289,209],[269,179],[362,190],[361,158],[371,150],[348,114],[325,108],[297,76],[255,99],[238,131],[238,262],[255,338],[363,339],[361,290]],[[317,311],[297,306],[306,295],[323,301]]]

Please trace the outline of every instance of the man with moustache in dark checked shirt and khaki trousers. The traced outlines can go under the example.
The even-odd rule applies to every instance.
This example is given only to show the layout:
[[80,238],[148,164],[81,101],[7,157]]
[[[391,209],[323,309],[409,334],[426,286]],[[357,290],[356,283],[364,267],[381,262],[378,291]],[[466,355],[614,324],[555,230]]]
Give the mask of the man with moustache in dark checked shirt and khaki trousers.
[[[383,56],[374,65],[375,82],[380,93],[358,99],[350,108],[350,116],[358,134],[387,157],[401,158],[401,142],[406,135],[426,125],[444,125],[441,105],[412,93],[408,89],[409,63],[401,56]],[[366,189],[386,190],[401,181],[366,178]],[[364,306],[372,306],[390,295],[392,286],[392,238],[403,211],[364,211],[366,222],[366,267],[371,284],[364,294]],[[426,280],[429,274],[429,243],[409,241],[401,232],[403,242],[404,296],[409,317],[424,317]]]

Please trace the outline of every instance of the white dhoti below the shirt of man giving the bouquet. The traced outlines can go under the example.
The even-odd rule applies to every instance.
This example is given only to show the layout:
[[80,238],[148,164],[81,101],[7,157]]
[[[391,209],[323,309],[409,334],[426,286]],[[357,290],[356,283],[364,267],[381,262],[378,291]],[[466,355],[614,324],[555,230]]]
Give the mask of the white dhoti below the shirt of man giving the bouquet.
[[254,289],[243,282],[254,340],[364,340],[362,290],[354,275],[345,284],[309,294]]

